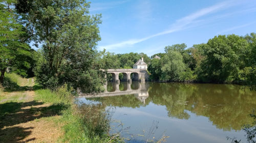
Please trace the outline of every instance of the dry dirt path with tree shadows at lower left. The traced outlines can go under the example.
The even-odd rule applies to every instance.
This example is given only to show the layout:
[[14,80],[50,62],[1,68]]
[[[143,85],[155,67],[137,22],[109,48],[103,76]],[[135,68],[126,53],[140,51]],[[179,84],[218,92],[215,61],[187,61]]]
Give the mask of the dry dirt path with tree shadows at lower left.
[[34,96],[34,91],[5,93],[0,101],[0,142],[57,142],[63,134],[56,107]]

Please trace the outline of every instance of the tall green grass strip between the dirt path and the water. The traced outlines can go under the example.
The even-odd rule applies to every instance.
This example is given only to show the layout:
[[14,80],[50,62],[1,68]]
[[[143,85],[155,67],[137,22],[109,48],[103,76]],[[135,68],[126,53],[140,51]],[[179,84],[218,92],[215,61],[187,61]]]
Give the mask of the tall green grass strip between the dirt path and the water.
[[110,114],[102,106],[75,104],[74,96],[65,84],[55,91],[48,89],[36,90],[36,100],[51,104],[61,104],[65,108],[61,111],[60,122],[65,134],[63,142],[120,142],[118,137],[108,134],[110,129]]

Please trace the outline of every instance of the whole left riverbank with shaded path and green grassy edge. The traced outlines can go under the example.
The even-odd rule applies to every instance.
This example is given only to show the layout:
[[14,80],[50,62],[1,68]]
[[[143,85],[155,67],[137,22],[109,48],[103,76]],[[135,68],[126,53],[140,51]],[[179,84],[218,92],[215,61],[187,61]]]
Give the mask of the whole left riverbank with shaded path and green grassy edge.
[[116,141],[108,134],[108,125],[97,131],[93,125],[98,123],[92,120],[95,116],[104,118],[102,110],[83,105],[91,110],[91,116],[84,116],[67,85],[50,91],[40,89],[33,78],[7,74],[6,79],[10,86],[0,94],[0,142]]

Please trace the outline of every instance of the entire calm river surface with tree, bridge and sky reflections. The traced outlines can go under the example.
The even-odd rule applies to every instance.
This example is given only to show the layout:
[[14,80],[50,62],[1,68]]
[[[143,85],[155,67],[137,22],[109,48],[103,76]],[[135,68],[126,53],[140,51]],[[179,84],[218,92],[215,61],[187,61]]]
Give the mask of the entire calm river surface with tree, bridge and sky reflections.
[[[79,98],[113,109],[112,131],[126,142],[246,142],[242,125],[256,109],[256,92],[232,84],[109,82],[100,98]],[[103,97],[102,97],[103,96]]]

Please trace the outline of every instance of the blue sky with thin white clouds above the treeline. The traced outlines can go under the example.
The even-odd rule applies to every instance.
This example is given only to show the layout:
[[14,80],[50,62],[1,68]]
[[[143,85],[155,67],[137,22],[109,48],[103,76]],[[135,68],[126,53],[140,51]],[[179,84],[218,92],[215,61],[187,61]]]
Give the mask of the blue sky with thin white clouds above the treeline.
[[91,1],[102,14],[98,50],[164,52],[167,45],[206,43],[216,35],[256,33],[256,0]]

